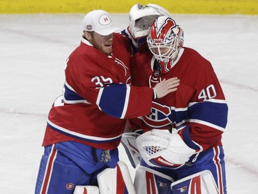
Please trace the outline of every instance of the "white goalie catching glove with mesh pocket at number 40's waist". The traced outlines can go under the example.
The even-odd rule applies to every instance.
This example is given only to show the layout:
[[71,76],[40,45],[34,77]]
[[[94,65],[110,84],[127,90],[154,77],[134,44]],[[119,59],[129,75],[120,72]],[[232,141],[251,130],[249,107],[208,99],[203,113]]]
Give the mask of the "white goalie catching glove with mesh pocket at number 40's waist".
[[180,168],[197,153],[186,145],[177,130],[150,130],[140,135],[136,144],[144,162],[153,167]]

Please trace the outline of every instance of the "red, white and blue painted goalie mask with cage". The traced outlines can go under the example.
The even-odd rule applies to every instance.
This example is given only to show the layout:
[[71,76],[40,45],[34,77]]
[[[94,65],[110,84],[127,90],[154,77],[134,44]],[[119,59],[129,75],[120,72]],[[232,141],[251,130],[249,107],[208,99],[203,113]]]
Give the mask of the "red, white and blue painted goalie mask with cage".
[[183,46],[184,31],[171,17],[161,16],[151,24],[147,43],[158,60],[162,73],[166,73],[172,68],[173,61]]

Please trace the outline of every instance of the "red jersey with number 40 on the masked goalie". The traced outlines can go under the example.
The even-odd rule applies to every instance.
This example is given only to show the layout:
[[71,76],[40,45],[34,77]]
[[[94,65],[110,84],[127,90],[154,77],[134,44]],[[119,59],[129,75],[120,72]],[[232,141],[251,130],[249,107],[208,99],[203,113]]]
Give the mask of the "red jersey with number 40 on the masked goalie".
[[[222,145],[228,106],[211,63],[191,48],[182,48],[166,74],[155,69],[157,61],[148,49],[137,52],[131,61],[133,86],[155,86],[162,79],[178,77],[174,93],[152,104],[151,114],[131,120],[134,129],[178,128],[184,130],[186,144],[192,140],[204,150]],[[182,131],[181,131],[182,132]]]

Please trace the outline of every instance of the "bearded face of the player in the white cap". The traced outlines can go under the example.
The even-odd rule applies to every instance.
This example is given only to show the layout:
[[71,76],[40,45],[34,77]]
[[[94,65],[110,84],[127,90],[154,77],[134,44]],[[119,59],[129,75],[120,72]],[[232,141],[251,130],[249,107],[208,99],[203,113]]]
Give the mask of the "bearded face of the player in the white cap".
[[91,43],[95,48],[98,48],[98,50],[100,50],[101,52],[104,52],[105,55],[111,55],[112,44],[113,44],[113,34],[103,36],[94,32]]

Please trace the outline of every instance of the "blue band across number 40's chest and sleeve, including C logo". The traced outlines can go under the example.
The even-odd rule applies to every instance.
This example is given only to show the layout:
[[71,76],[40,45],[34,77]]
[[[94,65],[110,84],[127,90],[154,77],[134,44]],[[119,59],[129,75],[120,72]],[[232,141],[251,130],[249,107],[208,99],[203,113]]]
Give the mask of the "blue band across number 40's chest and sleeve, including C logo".
[[227,124],[228,106],[225,100],[193,102],[185,108],[169,107],[153,102],[151,114],[142,117],[153,128],[162,128],[175,124],[179,127],[185,122],[197,122],[219,130]]

